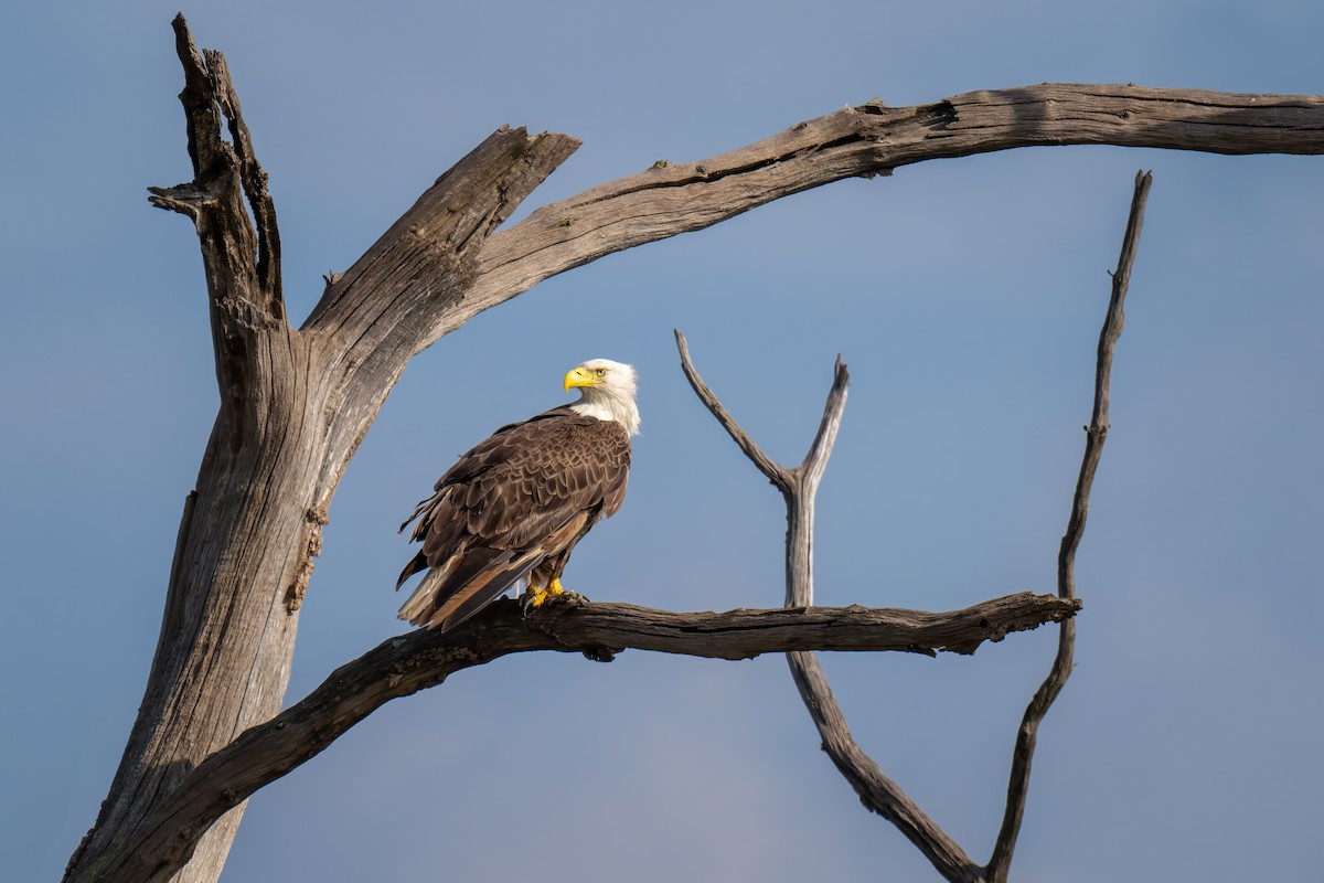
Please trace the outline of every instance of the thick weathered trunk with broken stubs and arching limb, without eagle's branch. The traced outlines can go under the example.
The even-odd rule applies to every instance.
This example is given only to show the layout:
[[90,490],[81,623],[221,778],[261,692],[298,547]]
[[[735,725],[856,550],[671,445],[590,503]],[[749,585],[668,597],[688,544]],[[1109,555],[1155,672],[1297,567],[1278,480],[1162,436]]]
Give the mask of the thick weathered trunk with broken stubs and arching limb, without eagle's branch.
[[[495,232],[579,144],[502,128],[330,281],[294,328],[275,209],[229,70],[220,53],[196,49],[181,17],[175,30],[195,177],[152,192],[197,229],[221,408],[184,507],[143,703],[68,880],[110,879],[107,866],[208,756],[275,715],[355,447],[409,357],[482,310],[605,254],[925,159],[1068,143],[1324,152],[1319,97],[1045,85],[908,109],[870,102],[699,163],[659,162]],[[175,879],[216,879],[241,812],[212,827]]]

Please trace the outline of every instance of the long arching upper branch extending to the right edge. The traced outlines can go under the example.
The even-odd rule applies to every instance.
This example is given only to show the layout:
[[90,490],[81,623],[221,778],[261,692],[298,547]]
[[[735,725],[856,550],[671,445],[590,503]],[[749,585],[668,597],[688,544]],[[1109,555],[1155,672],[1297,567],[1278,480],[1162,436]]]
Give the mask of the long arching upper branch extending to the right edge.
[[846,107],[696,163],[659,160],[538,209],[491,237],[474,286],[430,340],[557,273],[790,193],[931,159],[1061,144],[1317,155],[1324,97],[1042,83],[912,107]]

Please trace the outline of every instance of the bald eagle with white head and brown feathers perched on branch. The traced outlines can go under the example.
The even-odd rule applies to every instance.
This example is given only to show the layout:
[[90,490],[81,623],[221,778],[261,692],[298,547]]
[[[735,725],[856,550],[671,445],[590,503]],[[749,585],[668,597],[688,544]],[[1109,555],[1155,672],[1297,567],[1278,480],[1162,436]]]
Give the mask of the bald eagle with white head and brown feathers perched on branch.
[[405,519],[422,549],[405,565],[399,590],[422,581],[400,618],[451,629],[526,581],[526,609],[565,592],[571,551],[625,499],[630,438],[639,432],[630,365],[593,359],[565,375],[580,398],[522,424],[502,426],[461,455]]

